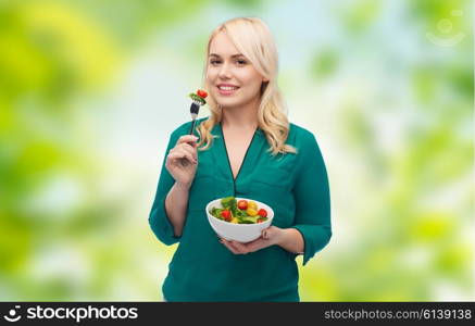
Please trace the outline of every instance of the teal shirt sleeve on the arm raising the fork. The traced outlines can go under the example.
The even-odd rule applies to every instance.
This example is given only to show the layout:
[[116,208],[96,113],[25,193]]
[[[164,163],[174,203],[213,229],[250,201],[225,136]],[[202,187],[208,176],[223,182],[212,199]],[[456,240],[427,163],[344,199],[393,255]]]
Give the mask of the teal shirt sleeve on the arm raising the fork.
[[165,167],[166,156],[170,150],[175,147],[178,139],[176,131],[170,137],[168,146],[166,147],[163,158],[162,171],[160,173],[159,185],[157,187],[155,199],[149,215],[149,224],[157,238],[164,244],[171,246],[179,241],[180,237],[175,237],[173,225],[168,220],[165,211],[165,199],[170,189],[175,184],[175,179]]

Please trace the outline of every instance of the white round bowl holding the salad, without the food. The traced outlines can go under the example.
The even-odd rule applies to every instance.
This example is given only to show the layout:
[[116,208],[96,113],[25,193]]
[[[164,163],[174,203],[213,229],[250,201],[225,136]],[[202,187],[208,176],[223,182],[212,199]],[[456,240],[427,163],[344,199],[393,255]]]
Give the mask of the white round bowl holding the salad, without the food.
[[274,210],[271,209],[265,203],[253,200],[253,199],[236,197],[237,201],[242,200],[242,199],[247,200],[247,201],[252,200],[253,202],[255,202],[258,204],[259,209],[266,210],[267,211],[267,220],[262,222],[262,223],[255,223],[255,224],[235,224],[235,223],[229,223],[229,222],[216,218],[210,214],[210,210],[212,208],[222,209],[223,208],[221,205],[222,198],[210,201],[205,208],[208,221],[210,222],[211,227],[214,229],[214,231],[218,236],[221,236],[222,238],[224,238],[226,240],[236,240],[239,242],[249,242],[249,241],[255,240],[261,236],[261,233],[264,228],[267,228],[268,226],[271,226],[272,220],[274,220]]

